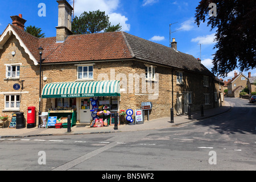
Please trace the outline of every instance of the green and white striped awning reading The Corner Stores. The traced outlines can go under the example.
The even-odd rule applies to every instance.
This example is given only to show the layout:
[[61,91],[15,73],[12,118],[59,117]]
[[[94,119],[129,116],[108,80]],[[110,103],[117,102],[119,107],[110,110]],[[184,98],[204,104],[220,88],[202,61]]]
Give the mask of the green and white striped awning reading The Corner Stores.
[[119,81],[54,82],[43,88],[42,98],[120,96]]

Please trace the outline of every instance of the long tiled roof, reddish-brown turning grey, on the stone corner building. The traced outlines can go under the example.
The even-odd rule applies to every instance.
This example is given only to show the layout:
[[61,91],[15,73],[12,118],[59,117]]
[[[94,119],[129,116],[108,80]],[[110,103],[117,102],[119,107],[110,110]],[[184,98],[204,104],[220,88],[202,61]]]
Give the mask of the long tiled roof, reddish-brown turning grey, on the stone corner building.
[[38,48],[40,46],[44,48],[43,64],[137,59],[214,76],[192,55],[123,31],[69,35],[63,43],[56,43],[56,37],[36,38],[11,24],[10,26],[14,28],[36,60],[40,59]]

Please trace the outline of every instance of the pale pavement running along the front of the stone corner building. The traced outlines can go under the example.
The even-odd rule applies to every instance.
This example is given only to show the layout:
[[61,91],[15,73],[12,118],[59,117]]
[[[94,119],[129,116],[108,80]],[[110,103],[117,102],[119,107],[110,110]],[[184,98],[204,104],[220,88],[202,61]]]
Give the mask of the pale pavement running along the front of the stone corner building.
[[79,135],[79,134],[96,134],[96,133],[115,133],[115,132],[129,132],[139,130],[155,130],[164,129],[167,127],[175,127],[189,122],[197,122],[201,119],[214,117],[219,114],[223,114],[232,108],[231,104],[227,101],[222,102],[222,107],[204,110],[204,117],[201,117],[201,111],[192,112],[191,119],[188,119],[188,115],[179,115],[174,117],[174,123],[171,123],[170,117],[151,119],[150,121],[144,121],[141,125],[118,125],[118,129],[114,130],[114,126],[108,127],[90,127],[89,125],[76,125],[71,128],[71,132],[68,133],[67,128],[55,129],[55,128],[32,128],[27,129],[10,129],[0,128],[1,138],[27,138],[27,137],[39,137],[50,135]]

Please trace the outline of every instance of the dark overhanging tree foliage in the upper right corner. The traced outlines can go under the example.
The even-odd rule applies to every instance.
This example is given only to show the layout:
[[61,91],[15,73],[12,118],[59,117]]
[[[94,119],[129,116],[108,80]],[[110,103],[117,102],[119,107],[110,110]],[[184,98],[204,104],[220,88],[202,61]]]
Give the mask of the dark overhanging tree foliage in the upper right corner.
[[[209,16],[210,3],[215,3],[217,15]],[[239,68],[241,72],[256,68],[256,1],[201,0],[196,7],[195,23],[205,22],[211,30],[217,27],[213,58],[213,73],[227,76]]]

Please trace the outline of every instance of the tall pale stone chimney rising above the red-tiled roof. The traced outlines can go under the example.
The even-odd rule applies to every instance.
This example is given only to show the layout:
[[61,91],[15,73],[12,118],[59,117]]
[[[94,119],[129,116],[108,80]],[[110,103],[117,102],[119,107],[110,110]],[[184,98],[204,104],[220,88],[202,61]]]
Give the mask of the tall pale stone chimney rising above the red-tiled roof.
[[73,7],[64,1],[57,1],[59,3],[59,17],[58,26],[56,27],[56,42],[62,43],[68,35],[72,35],[71,22]]

